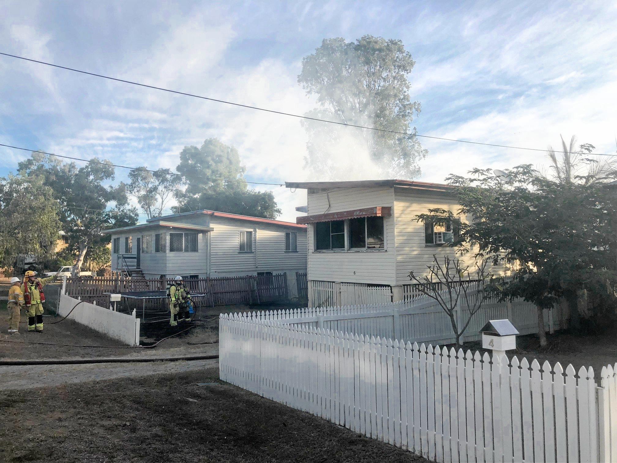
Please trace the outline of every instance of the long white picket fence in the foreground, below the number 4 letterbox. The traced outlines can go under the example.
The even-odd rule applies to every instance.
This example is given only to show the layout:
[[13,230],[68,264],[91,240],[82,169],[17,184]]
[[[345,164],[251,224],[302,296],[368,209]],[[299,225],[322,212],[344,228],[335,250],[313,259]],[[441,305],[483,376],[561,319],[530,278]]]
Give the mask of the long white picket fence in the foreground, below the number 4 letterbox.
[[221,315],[220,377],[437,462],[617,461],[617,364],[455,352]]

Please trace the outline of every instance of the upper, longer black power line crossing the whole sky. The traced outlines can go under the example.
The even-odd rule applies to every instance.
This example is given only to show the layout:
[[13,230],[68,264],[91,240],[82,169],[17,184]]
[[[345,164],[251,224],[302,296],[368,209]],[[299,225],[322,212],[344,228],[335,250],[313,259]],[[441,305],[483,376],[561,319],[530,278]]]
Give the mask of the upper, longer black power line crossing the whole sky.
[[[418,133],[409,133],[409,132],[403,132],[403,131],[397,131],[397,130],[387,130],[385,128],[368,127],[368,126],[365,126],[365,125],[356,125],[356,124],[351,124],[351,123],[346,123],[346,122],[338,122],[336,120],[318,119],[317,117],[309,117],[307,115],[293,114],[291,112],[275,111],[274,109],[267,109],[267,108],[258,107],[258,106],[251,106],[251,105],[248,105],[248,104],[241,104],[241,103],[236,103],[236,102],[233,102],[233,101],[225,101],[223,99],[210,98],[208,96],[196,95],[194,93],[187,93],[187,92],[184,92],[184,91],[170,90],[169,88],[157,87],[155,85],[147,85],[145,83],[139,83],[139,82],[135,82],[135,81],[132,81],[132,80],[120,79],[120,78],[117,78],[117,77],[110,77],[108,75],[97,74],[97,73],[94,73],[94,72],[88,72],[88,71],[84,71],[84,70],[81,70],[81,69],[75,69],[75,68],[67,67],[67,66],[60,66],[59,64],[52,64],[52,63],[49,63],[49,62],[39,61],[39,60],[36,60],[36,59],[26,58],[26,57],[23,57],[23,56],[17,56],[17,55],[13,55],[13,54],[9,54],[9,53],[0,52],[0,55],[9,56],[9,57],[12,57],[12,58],[17,58],[17,59],[22,59],[22,60],[30,61],[30,62],[33,62],[33,63],[44,64],[46,66],[57,67],[59,69],[65,69],[65,70],[68,70],[68,71],[79,72],[81,74],[91,75],[91,76],[94,76],[94,77],[101,77],[101,78],[104,78],[104,79],[107,79],[107,80],[114,80],[114,81],[117,81],[117,82],[130,83],[131,85],[138,85],[140,87],[151,88],[152,90],[166,91],[168,93],[175,93],[175,94],[178,94],[178,95],[191,96],[193,98],[205,99],[205,100],[214,101],[214,102],[217,102],[217,103],[231,104],[232,106],[239,106],[239,107],[244,107],[244,108],[247,108],[247,109],[255,109],[257,111],[265,111],[265,112],[271,112],[273,114],[280,114],[280,115],[286,115],[286,116],[291,116],[291,117],[297,117],[298,119],[308,119],[308,120],[314,120],[314,121],[317,121],[317,122],[325,122],[325,123],[331,123],[331,124],[336,124],[336,125],[345,125],[347,127],[363,128],[363,129],[366,129],[366,130],[375,130],[375,131],[380,131],[380,132],[384,132],[384,133],[394,133],[396,135],[420,136],[422,138],[430,138],[432,140],[455,141],[457,143],[468,143],[468,144],[480,144],[480,145],[483,145],[483,146],[493,146],[493,147],[496,147],[496,148],[523,149],[525,151],[542,151],[542,152],[548,152],[549,151],[548,149],[540,149],[540,148],[525,148],[523,146],[511,146],[511,145],[507,145],[507,144],[482,143],[481,141],[457,140],[456,138],[445,138],[445,137],[442,137],[442,136],[420,135]],[[555,151],[555,152],[564,152],[564,151]],[[601,154],[601,153],[588,153],[588,154],[595,154],[596,156],[613,156],[612,154]],[[249,183],[255,183],[255,182],[249,182]]]

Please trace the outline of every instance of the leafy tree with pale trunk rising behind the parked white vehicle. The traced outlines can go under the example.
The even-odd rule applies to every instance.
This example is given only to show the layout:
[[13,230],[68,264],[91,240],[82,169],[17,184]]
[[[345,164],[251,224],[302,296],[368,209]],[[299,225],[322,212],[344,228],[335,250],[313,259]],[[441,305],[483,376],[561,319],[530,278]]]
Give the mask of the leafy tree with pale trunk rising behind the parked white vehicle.
[[[78,168],[74,162],[65,164],[56,157],[33,152],[18,168],[23,177],[42,177],[59,201],[68,249],[77,254],[74,273],[80,271],[89,248],[95,251],[109,243],[109,235],[102,231],[135,225],[138,217],[135,207],[128,207],[126,185],[108,185],[114,180],[114,166],[96,157],[91,161]],[[108,210],[108,206],[113,208]]]

